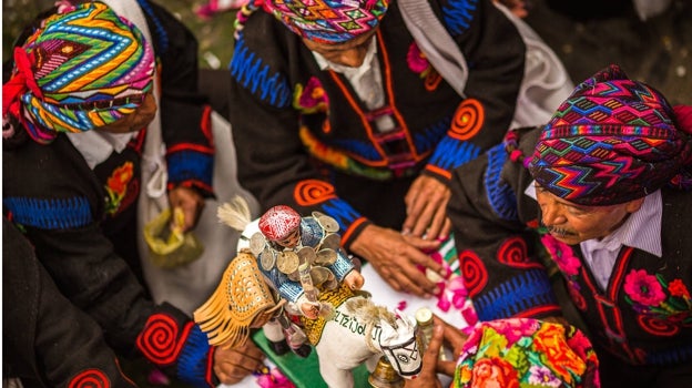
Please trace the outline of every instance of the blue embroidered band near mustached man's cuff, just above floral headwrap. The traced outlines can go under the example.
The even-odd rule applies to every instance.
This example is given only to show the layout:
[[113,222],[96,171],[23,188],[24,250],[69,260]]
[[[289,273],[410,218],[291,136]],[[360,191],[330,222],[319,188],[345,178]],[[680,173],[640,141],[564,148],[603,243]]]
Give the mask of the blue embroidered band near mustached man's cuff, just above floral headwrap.
[[545,269],[536,268],[500,284],[474,300],[478,318],[509,318],[532,307],[557,304]]

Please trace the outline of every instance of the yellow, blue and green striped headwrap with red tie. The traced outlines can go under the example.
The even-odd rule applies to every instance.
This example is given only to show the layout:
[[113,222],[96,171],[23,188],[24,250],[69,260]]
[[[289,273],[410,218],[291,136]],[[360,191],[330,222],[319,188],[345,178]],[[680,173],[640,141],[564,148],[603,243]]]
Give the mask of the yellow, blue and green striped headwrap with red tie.
[[101,2],[51,16],[21,48],[2,86],[2,114],[31,137],[82,132],[134,112],[152,89],[154,53],[140,30]]

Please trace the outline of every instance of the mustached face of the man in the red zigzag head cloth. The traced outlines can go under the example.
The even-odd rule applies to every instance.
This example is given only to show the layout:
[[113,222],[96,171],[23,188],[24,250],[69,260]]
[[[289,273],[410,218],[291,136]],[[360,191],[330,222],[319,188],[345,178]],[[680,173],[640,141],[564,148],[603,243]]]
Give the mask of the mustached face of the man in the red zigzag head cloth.
[[644,198],[609,206],[583,206],[564,201],[536,184],[536,200],[542,222],[558,241],[573,245],[613,233],[630,213],[639,211]]

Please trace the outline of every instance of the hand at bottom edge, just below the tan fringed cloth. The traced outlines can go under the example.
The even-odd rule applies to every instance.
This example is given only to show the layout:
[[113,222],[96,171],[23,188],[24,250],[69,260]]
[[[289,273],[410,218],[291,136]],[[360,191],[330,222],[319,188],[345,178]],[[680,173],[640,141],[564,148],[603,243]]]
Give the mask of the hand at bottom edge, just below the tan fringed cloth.
[[250,339],[237,348],[217,347],[214,351],[214,374],[221,382],[233,385],[260,370],[264,366],[264,357],[262,350]]

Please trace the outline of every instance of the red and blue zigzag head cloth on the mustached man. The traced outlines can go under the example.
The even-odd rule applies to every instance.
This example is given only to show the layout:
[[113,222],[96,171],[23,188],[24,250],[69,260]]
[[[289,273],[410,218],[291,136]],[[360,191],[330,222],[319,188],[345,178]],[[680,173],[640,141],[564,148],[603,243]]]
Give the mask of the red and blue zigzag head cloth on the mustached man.
[[673,110],[659,91],[610,65],[558,108],[529,170],[546,190],[581,205],[625,203],[666,183],[690,188],[688,109]]

